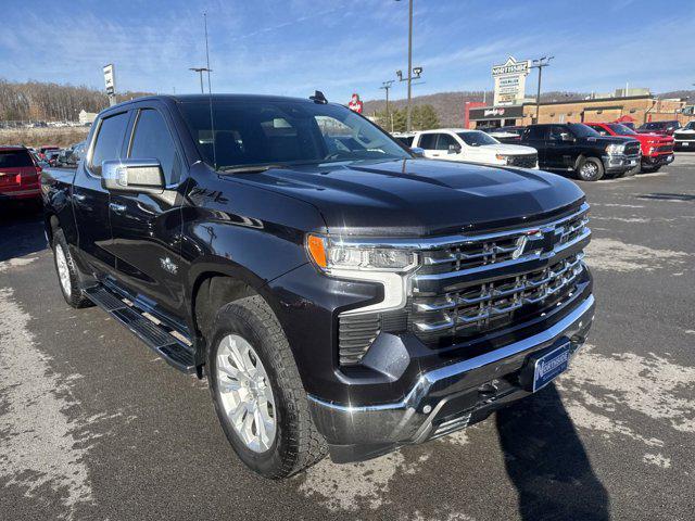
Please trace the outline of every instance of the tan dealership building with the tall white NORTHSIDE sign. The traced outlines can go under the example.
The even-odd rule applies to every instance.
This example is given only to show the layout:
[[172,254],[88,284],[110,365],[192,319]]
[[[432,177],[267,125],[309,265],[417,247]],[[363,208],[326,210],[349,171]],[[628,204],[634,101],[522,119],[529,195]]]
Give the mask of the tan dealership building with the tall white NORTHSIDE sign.
[[[558,99],[540,104],[526,98],[526,78],[533,68],[531,61],[514,58],[492,68],[495,81],[493,104],[467,103],[465,125],[468,128],[531,125],[533,123],[646,122],[679,119],[682,124],[694,115],[680,99],[658,99],[648,89],[618,89],[608,94],[585,99]],[[483,105],[483,106],[481,106]],[[536,120],[538,112],[538,120]]]

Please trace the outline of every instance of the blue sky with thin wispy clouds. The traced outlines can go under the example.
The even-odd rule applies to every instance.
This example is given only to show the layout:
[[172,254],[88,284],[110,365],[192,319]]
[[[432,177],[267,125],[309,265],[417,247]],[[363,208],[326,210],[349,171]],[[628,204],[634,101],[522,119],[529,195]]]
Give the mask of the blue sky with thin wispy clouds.
[[[0,77],[198,92],[208,14],[213,90],[346,102],[407,66],[407,0],[2,0]],[[543,90],[653,91],[695,82],[695,1],[415,0],[415,94],[492,88],[507,55],[554,54]],[[535,77],[529,78],[532,90]],[[395,84],[393,98],[405,97]]]

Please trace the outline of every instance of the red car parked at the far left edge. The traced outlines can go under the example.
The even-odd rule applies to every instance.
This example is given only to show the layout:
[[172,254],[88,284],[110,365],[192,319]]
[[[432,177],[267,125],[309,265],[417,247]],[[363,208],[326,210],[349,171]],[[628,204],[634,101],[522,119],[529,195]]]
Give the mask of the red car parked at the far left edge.
[[41,168],[24,147],[0,147],[0,201],[40,201],[40,171]]

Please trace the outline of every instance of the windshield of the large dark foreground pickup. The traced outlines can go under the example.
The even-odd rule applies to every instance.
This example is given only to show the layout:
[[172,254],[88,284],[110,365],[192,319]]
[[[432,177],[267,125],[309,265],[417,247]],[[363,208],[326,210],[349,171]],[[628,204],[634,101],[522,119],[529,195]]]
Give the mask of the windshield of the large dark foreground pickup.
[[391,137],[344,106],[301,101],[181,103],[205,163],[228,169],[412,157]]

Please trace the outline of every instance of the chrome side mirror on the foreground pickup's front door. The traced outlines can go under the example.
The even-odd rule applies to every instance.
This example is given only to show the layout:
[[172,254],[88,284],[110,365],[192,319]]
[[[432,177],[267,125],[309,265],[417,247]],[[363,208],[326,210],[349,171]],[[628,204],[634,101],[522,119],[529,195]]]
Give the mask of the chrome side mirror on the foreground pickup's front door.
[[165,185],[159,160],[110,160],[101,164],[101,186],[110,192],[162,193]]

